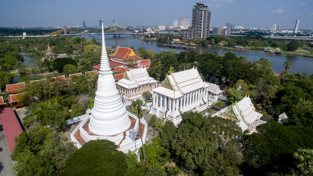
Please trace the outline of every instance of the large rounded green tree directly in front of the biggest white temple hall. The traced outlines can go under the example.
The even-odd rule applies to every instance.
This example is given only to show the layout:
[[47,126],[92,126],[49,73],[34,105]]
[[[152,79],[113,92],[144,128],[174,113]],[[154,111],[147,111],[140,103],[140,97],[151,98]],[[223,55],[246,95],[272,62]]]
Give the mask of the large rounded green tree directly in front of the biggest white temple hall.
[[[161,135],[162,137],[162,135]],[[217,149],[213,142],[213,126],[208,116],[198,112],[185,112],[172,140],[178,160],[192,173],[210,160]]]

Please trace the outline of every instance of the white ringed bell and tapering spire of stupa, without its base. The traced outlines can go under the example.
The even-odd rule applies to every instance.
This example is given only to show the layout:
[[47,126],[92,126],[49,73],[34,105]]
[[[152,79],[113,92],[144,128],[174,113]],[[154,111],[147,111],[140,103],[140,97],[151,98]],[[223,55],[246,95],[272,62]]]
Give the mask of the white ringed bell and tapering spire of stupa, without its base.
[[131,120],[116,89],[109,65],[104,41],[103,21],[100,63],[100,75],[94,107],[91,110],[89,130],[96,135],[112,136],[125,132],[131,126]]

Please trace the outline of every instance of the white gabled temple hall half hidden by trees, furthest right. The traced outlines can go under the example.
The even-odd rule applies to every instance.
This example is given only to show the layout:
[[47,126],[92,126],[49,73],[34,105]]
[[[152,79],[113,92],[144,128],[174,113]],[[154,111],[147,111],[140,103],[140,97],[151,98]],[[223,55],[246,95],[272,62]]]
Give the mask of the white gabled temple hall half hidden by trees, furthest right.
[[[205,115],[208,115],[208,113]],[[212,117],[213,116],[219,116],[236,121],[243,132],[245,130],[249,131],[248,134],[255,132],[256,127],[260,124],[266,123],[260,120],[263,114],[255,111],[255,107],[253,106],[249,96],[245,96],[241,101],[236,101],[232,105],[225,107],[224,109],[213,114]]]

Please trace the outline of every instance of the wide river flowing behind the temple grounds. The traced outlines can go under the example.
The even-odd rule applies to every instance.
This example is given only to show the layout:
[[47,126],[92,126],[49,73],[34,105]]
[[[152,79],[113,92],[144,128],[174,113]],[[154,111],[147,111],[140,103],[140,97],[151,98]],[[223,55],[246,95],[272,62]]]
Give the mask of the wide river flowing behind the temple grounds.
[[[93,39],[95,38],[97,41],[102,42],[102,38],[100,34],[89,34],[89,35],[73,35],[72,37],[84,37],[85,39]],[[142,44],[145,42],[146,44]],[[172,49],[172,48],[163,48],[157,47],[156,44],[163,44],[165,42],[158,42],[154,40],[142,40],[138,39],[132,35],[121,35],[120,38],[114,38],[112,35],[105,35],[105,45],[108,46],[122,46],[122,47],[131,47],[133,46],[134,49],[138,49],[140,47],[145,47],[147,51],[153,49],[156,53],[160,53],[161,51],[168,51],[173,50],[176,51],[178,54],[181,51],[196,51],[199,54],[202,53],[214,53],[217,52],[220,55],[224,55],[227,52],[232,52],[236,54],[237,57],[239,56],[246,56],[247,60],[250,62],[254,62],[256,60],[261,59],[261,57],[265,57],[269,59],[272,63],[272,69],[275,73],[280,73],[285,70],[284,63],[286,61],[290,61],[291,65],[291,72],[301,72],[307,73],[308,75],[313,74],[313,58],[311,57],[302,57],[302,56],[289,56],[289,55],[277,55],[277,54],[268,54],[258,52],[258,51],[240,51],[240,50],[229,50],[229,49],[221,49],[217,47],[206,47],[206,46],[196,46],[195,50],[191,49]],[[170,44],[170,43],[167,43]],[[25,57],[27,59],[27,57]],[[26,62],[25,62],[26,63]]]

